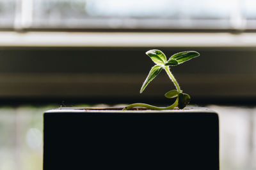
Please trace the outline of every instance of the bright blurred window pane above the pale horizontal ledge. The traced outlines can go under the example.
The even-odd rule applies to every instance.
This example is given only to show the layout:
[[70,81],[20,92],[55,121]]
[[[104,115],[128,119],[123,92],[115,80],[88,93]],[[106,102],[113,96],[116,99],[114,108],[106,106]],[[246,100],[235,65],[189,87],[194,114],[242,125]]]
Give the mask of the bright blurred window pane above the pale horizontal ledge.
[[0,0],[14,29],[255,29],[253,0]]

